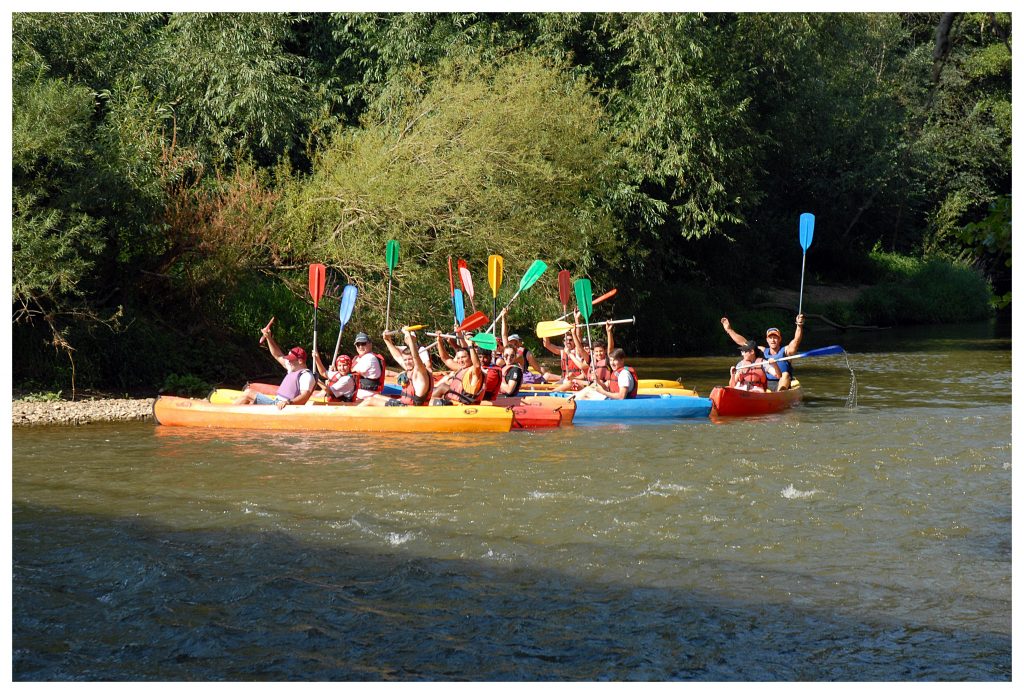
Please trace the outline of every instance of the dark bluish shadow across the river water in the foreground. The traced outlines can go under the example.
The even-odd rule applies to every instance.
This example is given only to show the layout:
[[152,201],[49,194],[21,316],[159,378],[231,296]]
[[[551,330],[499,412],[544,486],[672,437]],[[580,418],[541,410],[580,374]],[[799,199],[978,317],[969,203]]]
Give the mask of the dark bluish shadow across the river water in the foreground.
[[1011,677],[1005,635],[281,532],[24,504],[12,521],[16,681]]

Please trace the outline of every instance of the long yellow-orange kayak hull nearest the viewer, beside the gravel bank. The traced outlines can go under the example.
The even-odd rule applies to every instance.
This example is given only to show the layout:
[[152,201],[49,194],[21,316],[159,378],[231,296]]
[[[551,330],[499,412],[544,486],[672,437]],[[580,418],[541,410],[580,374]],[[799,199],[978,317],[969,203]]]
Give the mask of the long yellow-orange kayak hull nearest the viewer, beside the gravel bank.
[[161,396],[153,415],[164,426],[224,429],[365,431],[365,432],[503,432],[512,429],[513,413],[504,407],[357,407],[354,405],[216,404],[209,400]]

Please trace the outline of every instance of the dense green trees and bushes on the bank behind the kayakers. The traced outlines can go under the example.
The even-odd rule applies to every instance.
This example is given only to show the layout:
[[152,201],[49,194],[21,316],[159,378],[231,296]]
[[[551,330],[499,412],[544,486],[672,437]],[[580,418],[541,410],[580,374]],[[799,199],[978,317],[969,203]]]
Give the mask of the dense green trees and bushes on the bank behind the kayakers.
[[[617,288],[641,355],[809,283],[844,322],[1010,304],[1009,14],[13,15],[16,387],[238,385],[255,337],[311,338],[310,262],[346,331],[451,322],[447,258],[505,258],[521,333],[554,270]],[[612,302],[608,302],[612,304]],[[777,317],[790,324],[796,306]],[[784,318],[784,320],[783,320]]]

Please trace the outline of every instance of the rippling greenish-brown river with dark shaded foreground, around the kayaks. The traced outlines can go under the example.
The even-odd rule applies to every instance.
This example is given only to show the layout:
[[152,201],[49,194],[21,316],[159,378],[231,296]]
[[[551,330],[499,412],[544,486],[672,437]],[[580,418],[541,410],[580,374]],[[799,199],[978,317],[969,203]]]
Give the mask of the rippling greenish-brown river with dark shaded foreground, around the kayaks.
[[1009,335],[844,341],[758,419],[16,428],[13,678],[1009,681]]

